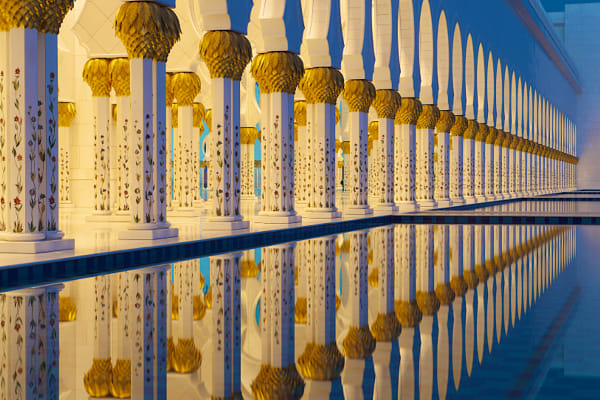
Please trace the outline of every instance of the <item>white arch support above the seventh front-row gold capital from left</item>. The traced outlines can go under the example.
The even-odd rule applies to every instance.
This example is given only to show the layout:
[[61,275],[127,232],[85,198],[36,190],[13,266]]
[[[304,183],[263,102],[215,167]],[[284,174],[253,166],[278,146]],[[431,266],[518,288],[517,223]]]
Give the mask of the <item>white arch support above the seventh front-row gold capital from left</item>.
[[377,89],[391,89],[390,58],[392,50],[392,3],[373,0],[373,49],[375,68],[373,84]]

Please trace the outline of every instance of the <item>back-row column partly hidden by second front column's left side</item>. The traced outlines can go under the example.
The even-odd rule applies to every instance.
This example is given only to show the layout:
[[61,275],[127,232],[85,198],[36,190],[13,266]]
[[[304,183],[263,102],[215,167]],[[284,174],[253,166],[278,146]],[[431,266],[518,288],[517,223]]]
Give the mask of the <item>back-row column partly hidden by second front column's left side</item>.
[[117,157],[117,214],[129,214],[131,182],[129,177],[129,120],[131,119],[131,86],[129,60],[115,58],[108,66],[111,86],[117,96],[117,130],[120,133]]

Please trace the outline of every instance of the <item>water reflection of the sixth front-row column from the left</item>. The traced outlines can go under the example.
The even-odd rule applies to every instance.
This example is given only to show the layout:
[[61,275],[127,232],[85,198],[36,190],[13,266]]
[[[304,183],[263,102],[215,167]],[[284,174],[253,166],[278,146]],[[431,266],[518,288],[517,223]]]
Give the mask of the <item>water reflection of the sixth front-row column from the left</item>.
[[365,359],[375,350],[375,338],[368,321],[368,231],[350,232],[348,267],[348,308],[350,318],[348,333],[342,341],[346,365],[342,374],[344,397],[349,400],[362,399],[362,383]]

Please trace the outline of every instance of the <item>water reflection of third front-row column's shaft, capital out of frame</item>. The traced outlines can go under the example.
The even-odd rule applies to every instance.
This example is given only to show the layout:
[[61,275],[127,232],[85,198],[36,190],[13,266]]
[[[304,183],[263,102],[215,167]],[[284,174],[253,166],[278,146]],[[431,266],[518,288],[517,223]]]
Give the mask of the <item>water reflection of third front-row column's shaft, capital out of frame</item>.
[[241,396],[240,258],[242,253],[210,257],[212,286],[213,397]]

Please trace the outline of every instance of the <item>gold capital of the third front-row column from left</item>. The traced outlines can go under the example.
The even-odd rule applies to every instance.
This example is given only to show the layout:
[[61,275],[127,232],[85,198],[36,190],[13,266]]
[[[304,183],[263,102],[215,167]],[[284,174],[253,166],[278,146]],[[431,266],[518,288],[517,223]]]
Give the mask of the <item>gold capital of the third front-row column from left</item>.
[[211,78],[239,81],[252,59],[252,46],[245,35],[234,31],[209,31],[200,41],[200,57]]

